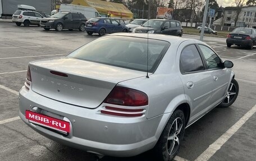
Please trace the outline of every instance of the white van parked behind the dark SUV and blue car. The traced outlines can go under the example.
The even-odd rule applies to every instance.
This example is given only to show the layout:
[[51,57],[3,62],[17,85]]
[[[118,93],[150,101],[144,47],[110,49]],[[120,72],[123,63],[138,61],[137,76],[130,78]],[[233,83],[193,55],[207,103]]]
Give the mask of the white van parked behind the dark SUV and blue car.
[[101,17],[99,12],[93,7],[86,7],[86,6],[78,6],[74,4],[61,4],[60,12],[80,12],[84,14],[87,20],[91,19],[92,17]]

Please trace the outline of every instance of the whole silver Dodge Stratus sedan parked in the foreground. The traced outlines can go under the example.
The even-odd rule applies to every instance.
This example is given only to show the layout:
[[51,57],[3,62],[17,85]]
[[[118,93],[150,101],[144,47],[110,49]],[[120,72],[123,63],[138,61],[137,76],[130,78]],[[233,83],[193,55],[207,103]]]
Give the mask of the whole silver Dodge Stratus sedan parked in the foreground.
[[130,157],[178,153],[185,128],[235,102],[231,61],[207,44],[161,34],[109,34],[66,57],[29,63],[21,119],[62,144]]

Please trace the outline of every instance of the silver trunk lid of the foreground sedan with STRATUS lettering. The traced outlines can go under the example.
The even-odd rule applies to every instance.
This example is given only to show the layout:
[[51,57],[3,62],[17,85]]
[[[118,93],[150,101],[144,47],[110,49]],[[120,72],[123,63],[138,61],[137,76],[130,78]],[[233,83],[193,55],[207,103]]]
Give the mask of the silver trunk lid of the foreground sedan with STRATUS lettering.
[[73,58],[30,63],[31,89],[60,102],[97,108],[118,82],[145,76],[145,72]]

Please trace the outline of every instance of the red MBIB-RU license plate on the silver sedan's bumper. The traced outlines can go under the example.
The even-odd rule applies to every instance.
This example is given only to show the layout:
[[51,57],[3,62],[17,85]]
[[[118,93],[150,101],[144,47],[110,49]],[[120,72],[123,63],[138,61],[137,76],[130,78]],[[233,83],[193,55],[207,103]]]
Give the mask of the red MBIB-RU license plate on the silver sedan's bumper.
[[26,110],[26,119],[35,125],[39,125],[60,134],[68,135],[70,133],[70,123],[61,119],[45,116],[44,114],[28,110]]

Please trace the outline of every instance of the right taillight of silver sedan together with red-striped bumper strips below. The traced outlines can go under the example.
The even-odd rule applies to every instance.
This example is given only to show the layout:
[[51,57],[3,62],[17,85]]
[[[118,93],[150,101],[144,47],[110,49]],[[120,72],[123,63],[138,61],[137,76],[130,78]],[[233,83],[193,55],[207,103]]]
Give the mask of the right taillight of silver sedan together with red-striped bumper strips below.
[[[145,113],[148,95],[142,91],[116,86],[104,100],[108,103],[100,112],[115,116],[139,117]],[[111,105],[112,104],[112,105]]]

